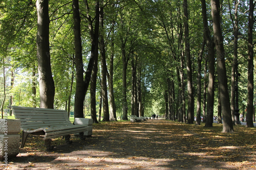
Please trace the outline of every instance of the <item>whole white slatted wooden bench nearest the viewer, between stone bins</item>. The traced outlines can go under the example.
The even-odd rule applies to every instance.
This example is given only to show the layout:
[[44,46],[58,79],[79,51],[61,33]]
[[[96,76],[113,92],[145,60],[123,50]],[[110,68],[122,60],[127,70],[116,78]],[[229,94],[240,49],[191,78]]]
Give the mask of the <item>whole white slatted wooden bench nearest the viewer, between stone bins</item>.
[[8,106],[13,111],[15,119],[21,120],[22,142],[20,148],[25,146],[27,136],[44,136],[47,150],[51,147],[51,138],[60,136],[65,137],[65,141],[71,144],[70,135],[79,133],[80,138],[84,139],[83,132],[88,130],[88,125],[73,125],[65,110],[30,108],[20,106]]

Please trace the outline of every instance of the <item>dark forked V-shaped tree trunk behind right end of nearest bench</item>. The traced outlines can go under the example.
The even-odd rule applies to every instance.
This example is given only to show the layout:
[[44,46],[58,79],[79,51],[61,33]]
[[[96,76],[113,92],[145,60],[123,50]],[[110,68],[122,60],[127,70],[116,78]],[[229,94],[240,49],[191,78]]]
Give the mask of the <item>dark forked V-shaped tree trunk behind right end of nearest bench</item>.
[[87,9],[87,19],[89,31],[91,36],[91,56],[87,66],[85,78],[83,75],[83,60],[82,60],[82,45],[81,45],[81,19],[79,13],[79,1],[73,0],[73,19],[74,19],[74,47],[75,47],[75,62],[76,62],[76,93],[74,103],[74,117],[84,117],[83,103],[84,97],[87,93],[91,73],[94,65],[95,55],[98,55],[98,41],[99,41],[99,2],[95,4],[95,25],[93,31],[93,22],[89,15],[89,5],[87,0],[84,1]]

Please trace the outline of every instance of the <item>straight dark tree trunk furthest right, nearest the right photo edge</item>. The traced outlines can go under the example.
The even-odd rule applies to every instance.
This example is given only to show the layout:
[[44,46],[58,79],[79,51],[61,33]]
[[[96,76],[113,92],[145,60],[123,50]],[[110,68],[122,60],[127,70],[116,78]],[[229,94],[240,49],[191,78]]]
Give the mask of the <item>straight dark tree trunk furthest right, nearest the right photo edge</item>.
[[249,17],[248,17],[248,101],[247,101],[247,114],[246,114],[246,127],[254,127],[253,125],[253,0],[249,1]]

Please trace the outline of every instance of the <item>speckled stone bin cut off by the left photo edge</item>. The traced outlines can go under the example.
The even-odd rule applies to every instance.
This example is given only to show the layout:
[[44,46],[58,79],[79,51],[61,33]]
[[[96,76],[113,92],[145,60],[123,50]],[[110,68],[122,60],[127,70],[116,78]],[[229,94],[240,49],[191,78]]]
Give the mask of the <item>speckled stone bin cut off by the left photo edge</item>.
[[0,119],[0,161],[9,161],[19,154],[19,132],[20,120]]

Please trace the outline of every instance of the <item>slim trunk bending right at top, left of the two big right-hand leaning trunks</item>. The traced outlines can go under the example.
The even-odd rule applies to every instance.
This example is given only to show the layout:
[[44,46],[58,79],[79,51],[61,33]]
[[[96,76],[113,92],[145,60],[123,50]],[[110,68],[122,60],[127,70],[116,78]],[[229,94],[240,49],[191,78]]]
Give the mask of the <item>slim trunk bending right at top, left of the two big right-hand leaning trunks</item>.
[[196,107],[196,125],[201,124],[201,67],[202,56],[205,48],[205,36],[203,38],[202,46],[197,57],[197,107]]

